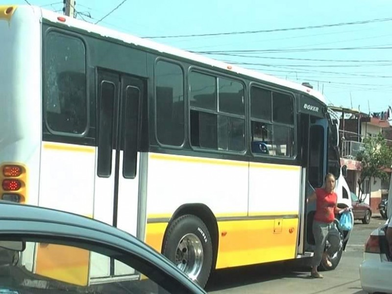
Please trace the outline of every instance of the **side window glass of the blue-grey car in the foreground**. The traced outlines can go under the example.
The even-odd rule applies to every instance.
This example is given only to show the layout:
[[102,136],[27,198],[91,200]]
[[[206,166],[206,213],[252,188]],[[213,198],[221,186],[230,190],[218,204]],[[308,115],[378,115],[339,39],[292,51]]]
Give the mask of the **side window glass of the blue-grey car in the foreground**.
[[27,242],[21,254],[20,248],[4,246],[7,242],[0,242],[0,293],[169,293],[135,270],[140,260],[128,258],[125,264],[119,260],[123,254],[110,249],[103,254],[86,246]]

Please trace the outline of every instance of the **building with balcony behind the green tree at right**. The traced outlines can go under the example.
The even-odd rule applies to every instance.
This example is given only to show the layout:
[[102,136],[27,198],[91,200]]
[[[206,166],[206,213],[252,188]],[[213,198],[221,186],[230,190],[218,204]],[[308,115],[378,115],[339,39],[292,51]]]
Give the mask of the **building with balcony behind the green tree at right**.
[[[360,195],[358,179],[361,176],[361,162],[358,154],[364,150],[363,139],[376,136],[382,133],[388,144],[392,145],[392,127],[390,126],[389,111],[381,115],[370,116],[355,109],[330,106],[330,108],[340,114],[340,151],[342,165],[347,166],[346,181],[350,191]],[[369,187],[369,188],[368,188]],[[368,190],[369,189],[369,190]],[[369,191],[365,195],[365,202],[373,211],[377,211],[381,199],[388,197],[389,179],[382,181],[379,178],[371,178],[363,183],[362,190]]]

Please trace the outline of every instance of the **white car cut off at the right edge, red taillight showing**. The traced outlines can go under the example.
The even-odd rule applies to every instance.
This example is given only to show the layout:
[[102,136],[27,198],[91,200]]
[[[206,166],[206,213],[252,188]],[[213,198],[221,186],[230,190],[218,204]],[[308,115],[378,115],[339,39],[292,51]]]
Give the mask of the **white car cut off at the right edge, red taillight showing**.
[[362,289],[368,293],[392,294],[392,256],[385,237],[388,222],[371,232],[359,266]]

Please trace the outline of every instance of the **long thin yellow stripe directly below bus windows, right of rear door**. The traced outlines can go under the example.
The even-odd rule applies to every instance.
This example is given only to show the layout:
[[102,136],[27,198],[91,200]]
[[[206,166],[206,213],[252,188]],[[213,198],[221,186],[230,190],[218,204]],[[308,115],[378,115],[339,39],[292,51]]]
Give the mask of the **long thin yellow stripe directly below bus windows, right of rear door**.
[[182,156],[182,155],[168,155],[168,154],[153,153],[153,154],[150,154],[150,159],[199,163],[199,164],[238,166],[238,167],[249,167],[250,166],[251,168],[263,168],[263,169],[273,169],[273,170],[286,170],[286,171],[298,171],[298,172],[300,171],[299,166],[268,164],[268,163],[258,163],[258,162],[250,162],[249,163],[246,161],[200,158],[200,157]]

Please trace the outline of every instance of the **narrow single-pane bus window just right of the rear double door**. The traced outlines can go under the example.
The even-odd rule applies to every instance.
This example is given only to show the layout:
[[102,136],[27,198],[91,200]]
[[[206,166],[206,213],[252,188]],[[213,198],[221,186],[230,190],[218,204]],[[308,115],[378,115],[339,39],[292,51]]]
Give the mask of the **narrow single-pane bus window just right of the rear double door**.
[[155,66],[156,132],[161,144],[184,142],[184,76],[179,65],[158,61]]

